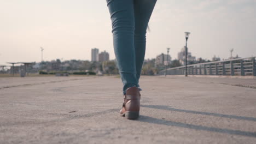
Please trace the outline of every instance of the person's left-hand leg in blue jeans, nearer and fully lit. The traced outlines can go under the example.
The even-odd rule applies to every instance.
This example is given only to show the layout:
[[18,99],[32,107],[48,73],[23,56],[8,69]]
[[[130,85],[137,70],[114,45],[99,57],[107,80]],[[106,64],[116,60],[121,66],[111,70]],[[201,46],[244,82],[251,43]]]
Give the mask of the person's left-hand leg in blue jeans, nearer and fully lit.
[[138,86],[134,48],[133,0],[107,0],[112,20],[115,57],[123,81],[123,92]]

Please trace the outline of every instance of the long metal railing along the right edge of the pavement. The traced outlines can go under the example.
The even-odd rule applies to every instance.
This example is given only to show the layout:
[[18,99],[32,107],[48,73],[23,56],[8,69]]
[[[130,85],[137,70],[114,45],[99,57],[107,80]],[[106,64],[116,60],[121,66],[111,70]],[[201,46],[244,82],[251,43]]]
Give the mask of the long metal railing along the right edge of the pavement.
[[[236,58],[225,61],[198,63],[188,65],[188,75],[241,75],[256,76],[256,57]],[[185,75],[185,66],[168,68],[167,75]],[[159,71],[165,75],[165,70]]]

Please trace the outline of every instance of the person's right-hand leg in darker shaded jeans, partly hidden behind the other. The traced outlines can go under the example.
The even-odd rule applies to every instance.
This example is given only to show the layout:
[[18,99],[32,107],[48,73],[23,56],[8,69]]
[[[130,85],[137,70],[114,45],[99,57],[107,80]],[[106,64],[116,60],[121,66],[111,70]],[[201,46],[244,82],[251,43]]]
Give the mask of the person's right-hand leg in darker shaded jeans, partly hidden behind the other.
[[156,0],[135,0],[134,15],[135,15],[135,63],[136,63],[136,79],[139,82],[141,69],[144,62],[146,51],[146,32],[150,16],[155,7]]

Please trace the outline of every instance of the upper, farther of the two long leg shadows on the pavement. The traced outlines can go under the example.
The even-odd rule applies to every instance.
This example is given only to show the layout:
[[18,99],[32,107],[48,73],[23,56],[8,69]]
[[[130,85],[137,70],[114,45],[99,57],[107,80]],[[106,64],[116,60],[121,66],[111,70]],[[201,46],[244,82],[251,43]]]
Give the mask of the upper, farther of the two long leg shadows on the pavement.
[[159,110],[187,112],[187,113],[194,113],[194,114],[199,114],[199,115],[234,118],[234,119],[255,121],[256,122],[256,118],[254,118],[254,117],[242,117],[242,116],[235,116],[235,115],[223,115],[223,114],[220,114],[220,113],[212,113],[212,112],[201,112],[201,111],[190,111],[190,110],[174,109],[174,108],[172,108],[170,106],[166,106],[166,105],[141,105],[141,106],[152,108],[152,109],[159,109]]

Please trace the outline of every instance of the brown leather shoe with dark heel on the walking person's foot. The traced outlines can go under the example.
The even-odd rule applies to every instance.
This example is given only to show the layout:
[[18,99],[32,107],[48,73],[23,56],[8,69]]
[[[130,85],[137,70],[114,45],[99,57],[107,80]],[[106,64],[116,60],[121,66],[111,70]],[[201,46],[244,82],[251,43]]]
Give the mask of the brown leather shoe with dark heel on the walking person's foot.
[[120,110],[121,116],[125,116],[127,119],[137,119],[139,117],[140,100],[139,88],[127,88],[123,108]]

